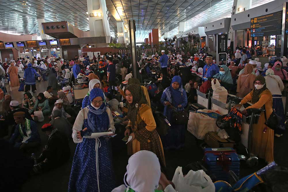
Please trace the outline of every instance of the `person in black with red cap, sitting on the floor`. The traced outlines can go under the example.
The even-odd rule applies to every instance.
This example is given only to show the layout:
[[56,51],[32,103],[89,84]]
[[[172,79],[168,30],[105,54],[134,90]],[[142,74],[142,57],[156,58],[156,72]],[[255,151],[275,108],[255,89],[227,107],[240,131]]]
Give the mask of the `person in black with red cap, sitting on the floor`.
[[37,159],[37,166],[33,168],[36,173],[46,172],[63,165],[70,157],[68,139],[64,133],[46,123],[41,129],[48,136],[47,148]]

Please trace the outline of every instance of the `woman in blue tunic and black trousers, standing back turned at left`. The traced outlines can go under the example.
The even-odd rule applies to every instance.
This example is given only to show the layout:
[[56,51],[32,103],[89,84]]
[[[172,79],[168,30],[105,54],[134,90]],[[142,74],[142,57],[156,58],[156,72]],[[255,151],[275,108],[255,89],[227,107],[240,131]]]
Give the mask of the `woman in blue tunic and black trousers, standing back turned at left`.
[[32,92],[36,92],[36,77],[40,77],[39,74],[36,73],[35,69],[32,68],[32,64],[28,64],[28,68],[24,71],[24,77],[25,80],[25,92],[30,91],[30,85],[32,87]]

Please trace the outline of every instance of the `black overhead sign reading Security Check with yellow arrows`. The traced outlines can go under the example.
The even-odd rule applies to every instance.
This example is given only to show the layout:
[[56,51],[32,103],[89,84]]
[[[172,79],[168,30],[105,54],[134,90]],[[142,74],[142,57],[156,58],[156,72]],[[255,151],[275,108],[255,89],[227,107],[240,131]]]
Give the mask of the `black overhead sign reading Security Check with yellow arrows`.
[[282,11],[252,18],[250,20],[251,37],[281,35]]

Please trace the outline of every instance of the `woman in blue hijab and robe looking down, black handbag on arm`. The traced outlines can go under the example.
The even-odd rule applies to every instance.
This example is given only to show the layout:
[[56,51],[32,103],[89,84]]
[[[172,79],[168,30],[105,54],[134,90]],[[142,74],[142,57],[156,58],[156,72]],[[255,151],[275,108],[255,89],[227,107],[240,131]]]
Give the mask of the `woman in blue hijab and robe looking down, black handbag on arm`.
[[176,125],[170,121],[173,107],[183,111],[184,107],[187,105],[187,95],[183,89],[180,76],[174,76],[171,85],[163,91],[161,103],[165,106],[164,115],[171,124],[168,134],[161,137],[163,148],[166,150],[183,148],[185,141],[185,125]]

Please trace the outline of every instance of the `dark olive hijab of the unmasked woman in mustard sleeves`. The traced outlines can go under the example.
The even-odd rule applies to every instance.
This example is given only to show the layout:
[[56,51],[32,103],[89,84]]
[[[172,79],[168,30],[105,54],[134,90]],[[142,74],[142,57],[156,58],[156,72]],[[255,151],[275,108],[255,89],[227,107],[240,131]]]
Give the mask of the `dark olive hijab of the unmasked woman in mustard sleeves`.
[[137,123],[137,114],[139,111],[139,108],[141,104],[147,104],[147,100],[145,98],[145,95],[143,93],[143,90],[140,85],[138,84],[130,84],[125,86],[124,93],[126,93],[126,90],[130,91],[133,96],[132,103],[128,103],[128,114],[127,117],[132,123],[132,128],[135,128],[135,125]]

